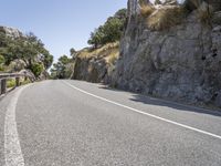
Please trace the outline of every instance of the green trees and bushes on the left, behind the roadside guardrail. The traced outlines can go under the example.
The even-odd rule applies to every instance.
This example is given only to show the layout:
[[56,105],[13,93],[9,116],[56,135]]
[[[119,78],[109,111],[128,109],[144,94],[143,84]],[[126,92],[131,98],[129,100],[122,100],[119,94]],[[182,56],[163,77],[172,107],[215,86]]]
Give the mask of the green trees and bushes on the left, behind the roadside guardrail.
[[53,56],[33,33],[15,38],[0,32],[0,71],[27,69],[39,76],[52,62]]

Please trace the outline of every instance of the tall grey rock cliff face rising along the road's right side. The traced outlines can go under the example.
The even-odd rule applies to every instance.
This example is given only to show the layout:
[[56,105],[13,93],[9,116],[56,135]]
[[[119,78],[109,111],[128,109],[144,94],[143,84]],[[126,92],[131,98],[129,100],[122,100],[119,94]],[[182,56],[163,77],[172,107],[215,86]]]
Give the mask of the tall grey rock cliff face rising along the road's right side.
[[138,0],[128,0],[128,24],[112,83],[167,100],[221,106],[221,8],[210,24],[192,11],[181,24],[161,31],[148,29],[139,9]]

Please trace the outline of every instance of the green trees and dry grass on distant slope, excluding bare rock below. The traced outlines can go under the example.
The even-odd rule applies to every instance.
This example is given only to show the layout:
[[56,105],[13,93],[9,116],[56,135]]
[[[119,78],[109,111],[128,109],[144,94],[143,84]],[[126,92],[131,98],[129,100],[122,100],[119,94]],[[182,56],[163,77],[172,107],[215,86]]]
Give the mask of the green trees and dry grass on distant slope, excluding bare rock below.
[[119,55],[119,40],[126,24],[126,9],[118,10],[114,17],[109,17],[105,24],[99,25],[92,32],[88,44],[92,48],[85,48],[81,51],[70,50],[71,58],[62,55],[51,69],[52,79],[72,77],[75,59],[105,59],[106,64],[114,63]]

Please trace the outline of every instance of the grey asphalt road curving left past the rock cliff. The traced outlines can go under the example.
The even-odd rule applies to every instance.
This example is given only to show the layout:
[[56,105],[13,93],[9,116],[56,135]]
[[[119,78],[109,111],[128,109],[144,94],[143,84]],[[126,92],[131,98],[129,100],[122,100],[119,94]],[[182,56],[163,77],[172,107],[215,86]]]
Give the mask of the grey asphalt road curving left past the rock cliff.
[[81,81],[0,100],[0,166],[220,166],[221,113]]

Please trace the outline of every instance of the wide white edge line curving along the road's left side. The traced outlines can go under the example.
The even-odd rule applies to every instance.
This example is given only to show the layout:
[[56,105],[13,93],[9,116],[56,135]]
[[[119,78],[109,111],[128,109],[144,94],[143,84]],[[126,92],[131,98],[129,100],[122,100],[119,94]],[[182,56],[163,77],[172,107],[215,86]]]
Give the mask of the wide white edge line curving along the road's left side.
[[21,152],[19,134],[15,121],[15,108],[19,96],[29,85],[20,87],[12,96],[6,112],[4,118],[4,160],[6,166],[24,166],[24,158]]

